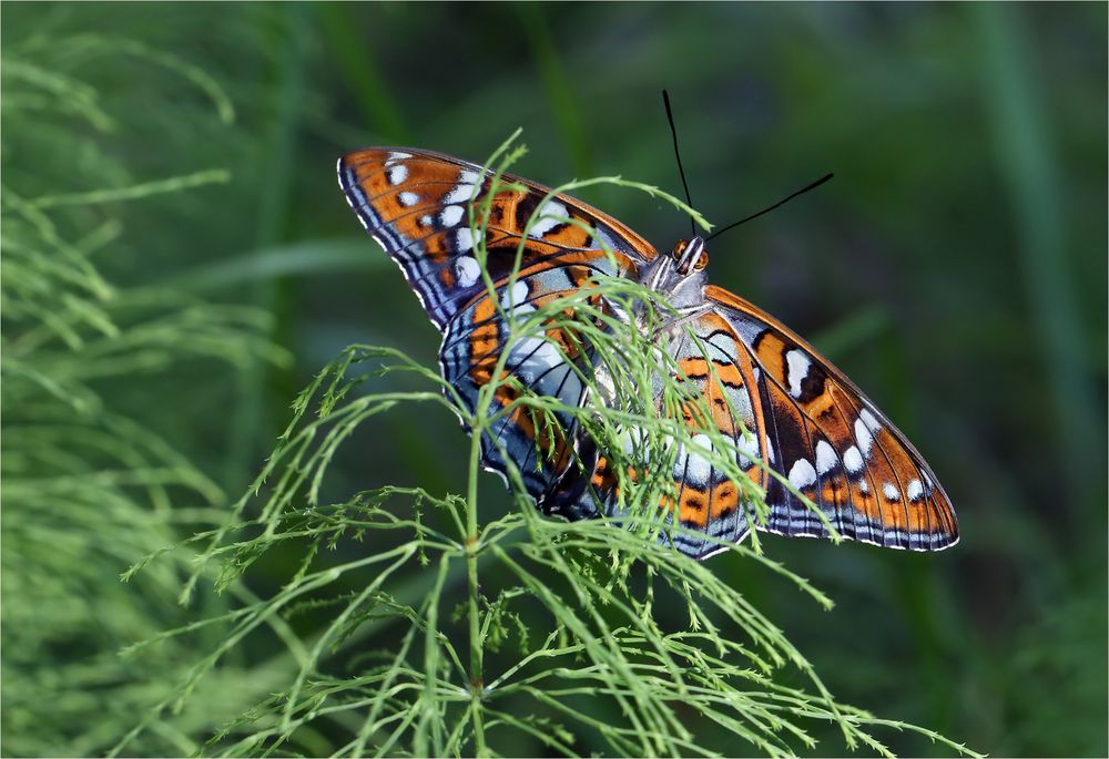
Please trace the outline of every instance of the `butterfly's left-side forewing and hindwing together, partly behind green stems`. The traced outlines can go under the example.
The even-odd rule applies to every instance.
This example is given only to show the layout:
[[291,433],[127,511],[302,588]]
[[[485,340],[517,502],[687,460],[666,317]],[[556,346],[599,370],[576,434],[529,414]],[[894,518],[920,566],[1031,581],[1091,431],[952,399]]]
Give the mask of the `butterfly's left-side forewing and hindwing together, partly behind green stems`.
[[[508,351],[496,420],[481,440],[484,463],[505,474],[511,462],[540,498],[569,464],[576,421],[560,414],[560,431],[537,434],[527,409],[512,401],[522,387],[580,406],[583,388],[571,363],[580,370],[592,358],[559,329],[521,336],[513,324],[597,276],[634,277],[654,249],[617,219],[528,180],[502,175],[490,198],[491,172],[438,153],[368,148],[340,158],[338,173],[350,207],[442,331],[442,376],[471,411]],[[488,222],[474,223],[486,207]],[[479,245],[491,288],[475,256]]]

